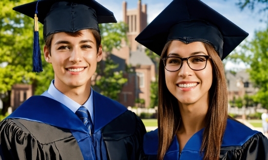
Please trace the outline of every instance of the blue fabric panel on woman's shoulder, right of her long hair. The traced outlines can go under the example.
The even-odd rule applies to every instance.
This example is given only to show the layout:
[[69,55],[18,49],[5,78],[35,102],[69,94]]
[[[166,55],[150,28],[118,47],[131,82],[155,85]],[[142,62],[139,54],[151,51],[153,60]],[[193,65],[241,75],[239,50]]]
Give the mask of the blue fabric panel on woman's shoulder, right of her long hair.
[[225,133],[223,135],[222,147],[242,146],[257,133],[260,132],[252,130],[236,120],[228,119]]

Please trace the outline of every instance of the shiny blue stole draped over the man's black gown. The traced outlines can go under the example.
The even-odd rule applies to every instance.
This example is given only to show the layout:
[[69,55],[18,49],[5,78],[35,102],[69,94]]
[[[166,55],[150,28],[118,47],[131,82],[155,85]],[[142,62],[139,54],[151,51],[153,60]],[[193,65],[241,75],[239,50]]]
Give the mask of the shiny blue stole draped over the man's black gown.
[[[127,111],[120,103],[94,94],[94,141],[96,149],[91,145],[89,131],[68,107],[46,96],[32,96],[7,118],[20,118],[51,126],[69,129],[76,138],[84,160],[105,160],[106,146],[102,139],[101,128]],[[95,154],[95,151],[96,154]]]

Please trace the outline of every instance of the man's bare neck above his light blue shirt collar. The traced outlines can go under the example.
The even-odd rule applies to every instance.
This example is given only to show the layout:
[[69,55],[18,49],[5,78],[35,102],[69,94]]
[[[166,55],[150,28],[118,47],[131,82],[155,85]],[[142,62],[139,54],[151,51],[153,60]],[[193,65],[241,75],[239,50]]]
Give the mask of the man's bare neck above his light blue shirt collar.
[[91,80],[82,86],[63,86],[55,80],[54,85],[57,90],[80,105],[83,105],[88,100],[91,92]]

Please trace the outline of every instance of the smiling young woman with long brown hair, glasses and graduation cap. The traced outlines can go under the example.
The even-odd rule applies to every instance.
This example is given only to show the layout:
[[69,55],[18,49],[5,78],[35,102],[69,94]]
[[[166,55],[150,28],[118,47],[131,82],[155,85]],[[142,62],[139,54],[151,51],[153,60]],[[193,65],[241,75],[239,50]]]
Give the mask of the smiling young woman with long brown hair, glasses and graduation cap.
[[158,129],[141,160],[268,160],[268,139],[228,116],[221,60],[247,36],[200,0],[173,0],[136,37],[161,56]]

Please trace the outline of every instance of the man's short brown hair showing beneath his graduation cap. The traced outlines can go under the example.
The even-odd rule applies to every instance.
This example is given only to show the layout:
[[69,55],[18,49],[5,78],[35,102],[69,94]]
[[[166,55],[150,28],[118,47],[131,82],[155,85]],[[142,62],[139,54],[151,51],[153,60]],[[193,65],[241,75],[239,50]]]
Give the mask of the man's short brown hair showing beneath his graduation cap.
[[[101,44],[101,36],[100,36],[100,33],[95,30],[95,29],[87,29],[89,32],[91,32],[94,36],[94,38],[96,39],[96,47],[97,47],[97,51],[98,51],[98,48],[100,47],[100,44]],[[78,37],[78,36],[81,36],[82,35],[82,32],[81,30],[80,31],[77,31],[77,32],[65,32],[66,34],[70,35],[70,36],[73,36],[73,37]],[[55,33],[52,33],[50,34],[49,36],[47,36],[47,38],[45,39],[45,45],[48,47],[48,51],[49,51],[49,54],[51,55],[51,42],[52,42],[52,39],[53,39],[53,36],[54,36]]]

